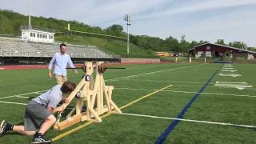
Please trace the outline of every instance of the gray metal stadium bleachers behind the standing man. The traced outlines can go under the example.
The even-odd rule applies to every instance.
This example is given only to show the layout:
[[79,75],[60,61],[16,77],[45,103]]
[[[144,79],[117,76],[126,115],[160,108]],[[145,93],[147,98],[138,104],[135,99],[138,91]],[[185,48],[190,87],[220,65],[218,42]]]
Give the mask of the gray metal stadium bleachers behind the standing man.
[[[0,57],[50,58],[59,51],[60,43],[23,42],[18,38],[0,38]],[[71,58],[114,58],[96,46],[68,44]]]

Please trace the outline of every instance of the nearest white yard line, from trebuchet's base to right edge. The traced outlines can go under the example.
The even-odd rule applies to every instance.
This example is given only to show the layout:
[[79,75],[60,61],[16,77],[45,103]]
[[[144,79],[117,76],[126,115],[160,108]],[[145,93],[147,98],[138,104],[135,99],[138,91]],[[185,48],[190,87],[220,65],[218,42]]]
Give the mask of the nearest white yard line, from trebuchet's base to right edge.
[[184,122],[198,122],[198,123],[207,123],[207,124],[222,125],[222,126],[238,126],[238,127],[246,127],[246,128],[256,128],[256,126],[250,126],[250,125],[238,125],[238,124],[224,123],[224,122],[198,121],[198,120],[182,119],[182,118],[167,118],[167,117],[158,117],[158,116],[144,115],[144,114],[122,113],[122,115],[132,115],[132,116],[146,117],[146,118],[171,119],[171,120],[178,120],[178,121],[184,121]]

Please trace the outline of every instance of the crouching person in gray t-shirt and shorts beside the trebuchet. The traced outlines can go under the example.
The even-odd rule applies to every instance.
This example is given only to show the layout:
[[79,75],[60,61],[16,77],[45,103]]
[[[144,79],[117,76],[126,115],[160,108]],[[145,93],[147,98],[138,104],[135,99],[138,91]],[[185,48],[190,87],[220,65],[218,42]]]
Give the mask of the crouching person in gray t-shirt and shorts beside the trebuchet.
[[26,105],[24,126],[14,126],[3,120],[0,126],[0,137],[7,131],[14,131],[20,134],[34,135],[30,143],[50,143],[50,140],[44,139],[43,135],[56,122],[54,113],[64,110],[62,106],[57,106],[59,102],[67,102],[62,95],[72,92],[75,87],[73,82],[66,81],[62,85],[56,85],[47,90],[38,98],[32,99]]

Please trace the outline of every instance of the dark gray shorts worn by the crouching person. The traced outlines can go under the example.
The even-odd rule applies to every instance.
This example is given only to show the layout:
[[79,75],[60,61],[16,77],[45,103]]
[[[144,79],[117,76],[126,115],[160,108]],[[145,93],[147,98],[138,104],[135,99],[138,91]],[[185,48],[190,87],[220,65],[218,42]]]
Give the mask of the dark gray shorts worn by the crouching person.
[[30,103],[26,105],[25,110],[25,130],[38,131],[42,122],[44,122],[50,115],[51,113],[46,109],[46,106],[30,101]]

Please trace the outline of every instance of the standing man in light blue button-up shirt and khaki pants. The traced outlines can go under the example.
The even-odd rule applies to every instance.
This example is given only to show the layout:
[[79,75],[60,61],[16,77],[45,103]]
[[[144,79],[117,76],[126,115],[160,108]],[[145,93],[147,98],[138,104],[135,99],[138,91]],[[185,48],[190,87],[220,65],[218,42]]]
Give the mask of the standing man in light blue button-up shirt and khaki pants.
[[[62,83],[67,81],[66,77],[66,66],[70,66],[74,68],[73,62],[71,61],[70,55],[66,54],[67,46],[62,43],[60,46],[60,52],[54,54],[54,57],[51,58],[48,69],[48,75],[51,78],[52,66],[54,65],[54,78],[58,85],[62,85]],[[74,70],[74,74],[78,74],[77,70]]]

